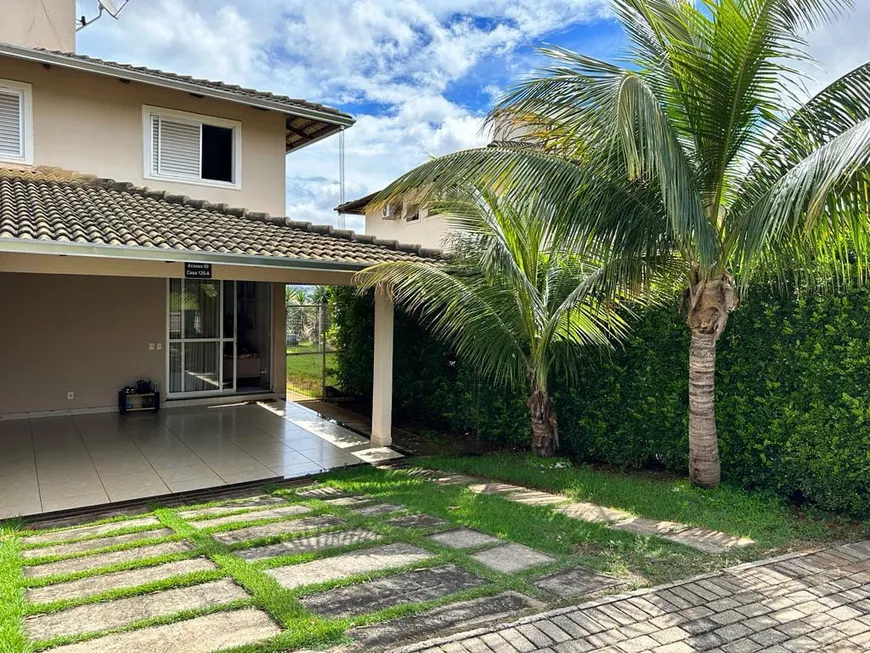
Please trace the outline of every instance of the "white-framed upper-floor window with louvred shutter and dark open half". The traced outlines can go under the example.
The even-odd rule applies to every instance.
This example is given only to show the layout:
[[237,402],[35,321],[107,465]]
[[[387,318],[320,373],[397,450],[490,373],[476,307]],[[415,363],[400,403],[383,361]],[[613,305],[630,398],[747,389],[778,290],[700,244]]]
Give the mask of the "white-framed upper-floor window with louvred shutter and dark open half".
[[241,188],[235,120],[144,107],[145,177]]

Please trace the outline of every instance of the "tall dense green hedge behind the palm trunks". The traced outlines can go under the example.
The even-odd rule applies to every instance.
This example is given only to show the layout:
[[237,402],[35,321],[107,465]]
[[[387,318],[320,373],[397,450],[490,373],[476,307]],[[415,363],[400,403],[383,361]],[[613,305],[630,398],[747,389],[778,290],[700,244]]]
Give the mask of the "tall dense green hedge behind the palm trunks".
[[[335,295],[343,390],[371,393],[373,310]],[[396,318],[394,410],[421,426],[525,447],[525,398],[481,383],[413,319]],[[687,467],[688,331],[677,306],[651,311],[630,340],[594,354],[553,390],[562,448],[625,468]],[[723,475],[797,502],[870,512],[870,291],[806,299],[756,292],[720,341],[716,379]]]

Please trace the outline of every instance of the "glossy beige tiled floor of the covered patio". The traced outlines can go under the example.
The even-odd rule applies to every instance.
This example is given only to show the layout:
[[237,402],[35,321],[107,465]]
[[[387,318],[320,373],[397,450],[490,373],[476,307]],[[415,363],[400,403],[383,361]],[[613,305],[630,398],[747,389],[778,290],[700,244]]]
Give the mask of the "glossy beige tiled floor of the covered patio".
[[397,455],[285,402],[0,421],[0,519]]

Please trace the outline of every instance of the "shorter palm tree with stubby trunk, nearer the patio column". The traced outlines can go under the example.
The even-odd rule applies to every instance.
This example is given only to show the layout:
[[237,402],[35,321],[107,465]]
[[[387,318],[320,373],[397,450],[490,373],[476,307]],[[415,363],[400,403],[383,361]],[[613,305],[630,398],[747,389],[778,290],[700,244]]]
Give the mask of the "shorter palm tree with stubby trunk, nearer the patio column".
[[424,318],[482,377],[523,387],[532,449],[552,455],[558,447],[552,374],[576,377],[583,348],[608,347],[626,332],[625,302],[653,296],[618,287],[620,278],[634,275],[623,269],[634,270],[635,261],[592,256],[594,242],[578,247],[536,200],[454,189],[436,208],[451,216],[449,260],[382,263],[355,281],[361,290],[391,288],[397,304]]

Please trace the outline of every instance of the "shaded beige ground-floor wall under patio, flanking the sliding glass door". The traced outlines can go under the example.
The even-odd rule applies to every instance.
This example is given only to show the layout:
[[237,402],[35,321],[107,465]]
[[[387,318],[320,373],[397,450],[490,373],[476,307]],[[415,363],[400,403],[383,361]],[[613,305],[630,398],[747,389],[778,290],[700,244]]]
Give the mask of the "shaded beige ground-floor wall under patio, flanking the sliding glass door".
[[[166,292],[161,278],[0,273],[0,419],[115,410],[117,391],[139,379],[165,400]],[[272,387],[283,396],[284,284],[273,302]]]

